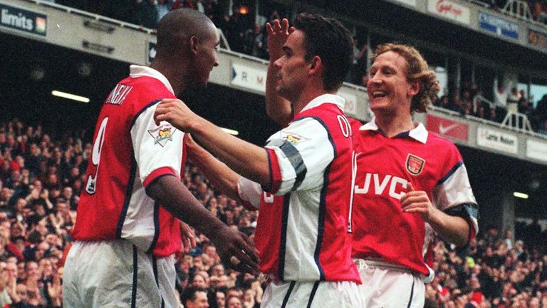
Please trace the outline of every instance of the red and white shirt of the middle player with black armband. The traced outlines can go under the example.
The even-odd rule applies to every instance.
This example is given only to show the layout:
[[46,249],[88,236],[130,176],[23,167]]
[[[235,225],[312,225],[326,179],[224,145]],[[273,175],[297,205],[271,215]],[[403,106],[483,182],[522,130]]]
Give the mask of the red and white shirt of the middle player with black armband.
[[260,208],[255,244],[261,271],[282,281],[360,282],[351,260],[351,128],[344,100],[313,99],[266,143],[271,187],[240,180],[242,200]]

